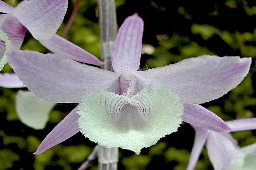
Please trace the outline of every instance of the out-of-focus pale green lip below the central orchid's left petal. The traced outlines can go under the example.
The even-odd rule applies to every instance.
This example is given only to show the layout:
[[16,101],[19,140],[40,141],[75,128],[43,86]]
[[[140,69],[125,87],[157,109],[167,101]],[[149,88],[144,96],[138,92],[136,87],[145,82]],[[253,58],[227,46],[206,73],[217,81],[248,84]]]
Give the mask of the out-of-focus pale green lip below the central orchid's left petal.
[[19,90],[15,107],[20,121],[34,129],[44,129],[49,113],[56,103],[50,103],[29,91]]

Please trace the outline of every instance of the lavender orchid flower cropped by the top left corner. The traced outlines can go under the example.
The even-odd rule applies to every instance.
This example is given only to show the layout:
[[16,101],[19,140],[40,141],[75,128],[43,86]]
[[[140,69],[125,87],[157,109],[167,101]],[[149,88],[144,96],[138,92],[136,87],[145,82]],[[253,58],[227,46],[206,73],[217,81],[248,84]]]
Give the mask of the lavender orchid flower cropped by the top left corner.
[[[0,29],[14,49],[20,49],[26,28],[35,39],[49,39],[58,30],[68,9],[68,0],[22,1],[15,8],[0,1]],[[0,70],[6,64],[5,43],[0,43]]]

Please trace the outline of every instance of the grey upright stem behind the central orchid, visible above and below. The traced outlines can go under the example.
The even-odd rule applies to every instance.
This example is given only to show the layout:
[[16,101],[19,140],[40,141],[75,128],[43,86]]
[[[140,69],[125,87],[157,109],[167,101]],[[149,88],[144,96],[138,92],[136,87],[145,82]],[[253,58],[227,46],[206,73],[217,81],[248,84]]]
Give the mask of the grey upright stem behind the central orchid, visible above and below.
[[[100,57],[104,70],[113,71],[112,49],[117,34],[116,6],[114,0],[98,0],[100,25]],[[98,150],[98,169],[117,169],[118,148],[100,146]]]

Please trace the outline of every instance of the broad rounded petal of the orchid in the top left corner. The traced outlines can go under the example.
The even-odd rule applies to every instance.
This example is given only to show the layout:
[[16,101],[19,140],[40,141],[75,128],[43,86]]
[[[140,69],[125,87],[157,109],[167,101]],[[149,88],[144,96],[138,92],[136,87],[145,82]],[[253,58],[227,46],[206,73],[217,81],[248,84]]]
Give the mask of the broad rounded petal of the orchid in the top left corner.
[[35,39],[49,39],[60,27],[68,9],[68,0],[22,1],[12,14]]

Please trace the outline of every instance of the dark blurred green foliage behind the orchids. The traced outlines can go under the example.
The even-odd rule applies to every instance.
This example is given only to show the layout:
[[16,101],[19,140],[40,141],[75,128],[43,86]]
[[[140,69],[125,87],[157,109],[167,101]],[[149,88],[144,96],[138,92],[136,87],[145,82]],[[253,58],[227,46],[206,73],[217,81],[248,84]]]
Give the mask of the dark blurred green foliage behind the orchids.
[[[20,1],[5,2],[16,6]],[[62,34],[75,3],[76,0],[69,1],[67,14],[57,34]],[[118,26],[135,12],[144,20],[141,70],[204,54],[252,57],[250,73],[240,85],[220,99],[202,105],[224,120],[255,117],[256,1],[116,0],[116,9]],[[100,58],[97,13],[97,0],[81,0],[65,38]],[[50,52],[28,31],[21,49]],[[12,72],[12,69],[7,64],[2,72]],[[18,90],[0,88],[0,170],[77,169],[96,145],[81,133],[41,155],[33,155],[44,137],[76,105],[56,105],[46,127],[35,130],[21,123],[15,112]],[[140,155],[120,149],[118,169],[185,169],[194,135],[193,128],[183,123],[177,133],[142,149]],[[255,130],[232,135],[241,147],[256,142]],[[90,168],[97,169],[97,160]],[[205,148],[196,169],[213,169]]]

